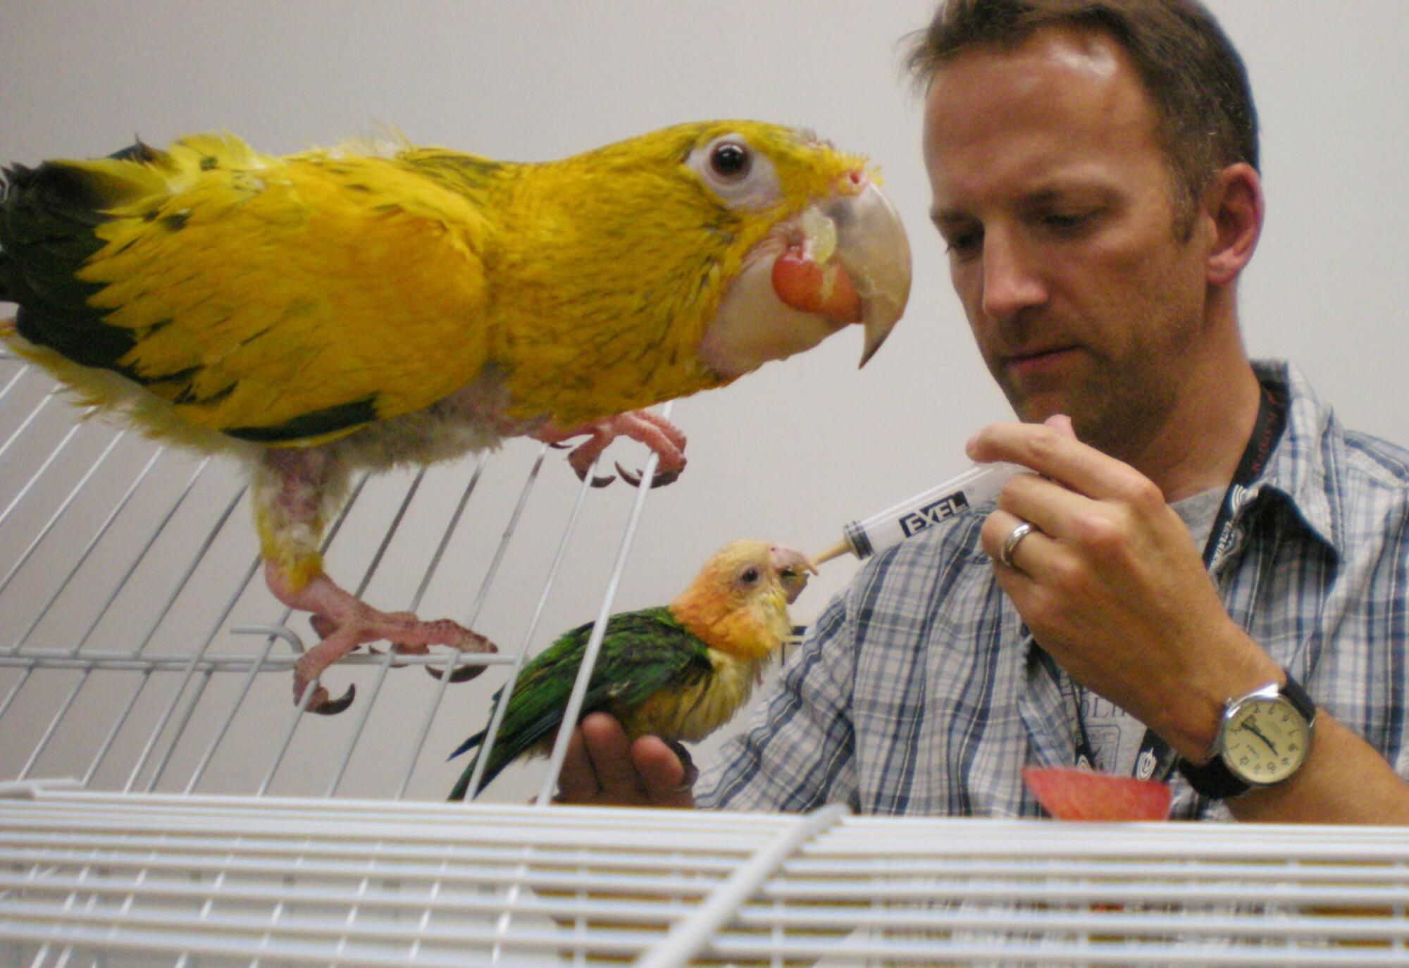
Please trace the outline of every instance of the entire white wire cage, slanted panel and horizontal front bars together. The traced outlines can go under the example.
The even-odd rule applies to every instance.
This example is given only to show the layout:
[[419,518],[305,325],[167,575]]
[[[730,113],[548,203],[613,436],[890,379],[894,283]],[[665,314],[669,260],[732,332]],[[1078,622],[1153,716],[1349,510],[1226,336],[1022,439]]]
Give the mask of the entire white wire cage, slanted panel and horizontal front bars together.
[[[330,672],[347,713],[299,713],[307,633],[240,482],[52,390],[0,359],[0,964],[1409,964],[1394,827],[442,803],[492,688],[366,651]],[[358,482],[328,540],[511,671],[550,599],[612,609],[648,493],[540,507],[544,455]],[[531,613],[496,613],[523,581]]]

